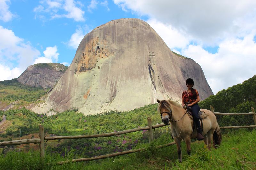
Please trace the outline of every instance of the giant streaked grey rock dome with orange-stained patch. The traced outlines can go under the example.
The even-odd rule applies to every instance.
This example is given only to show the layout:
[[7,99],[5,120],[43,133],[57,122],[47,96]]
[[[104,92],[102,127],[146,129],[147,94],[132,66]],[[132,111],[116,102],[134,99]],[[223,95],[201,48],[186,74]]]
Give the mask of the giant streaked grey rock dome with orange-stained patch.
[[148,23],[118,19],[84,36],[68,70],[41,99],[45,102],[31,109],[45,113],[77,108],[96,114],[170,97],[181,101],[187,78],[194,79],[201,99],[213,94],[200,65],[173,53]]

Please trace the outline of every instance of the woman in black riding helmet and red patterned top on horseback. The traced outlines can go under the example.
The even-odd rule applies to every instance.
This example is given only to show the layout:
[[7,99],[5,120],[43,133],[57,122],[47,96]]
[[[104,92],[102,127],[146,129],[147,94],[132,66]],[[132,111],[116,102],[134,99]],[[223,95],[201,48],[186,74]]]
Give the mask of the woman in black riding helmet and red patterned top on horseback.
[[188,78],[186,80],[186,85],[188,87],[188,90],[185,90],[182,93],[182,106],[185,107],[186,104],[187,106],[190,106],[192,108],[192,117],[197,129],[197,140],[203,140],[204,137],[202,135],[201,124],[198,117],[198,112],[200,110],[200,107],[197,104],[200,101],[199,93],[196,89],[192,88],[194,85],[193,79]]

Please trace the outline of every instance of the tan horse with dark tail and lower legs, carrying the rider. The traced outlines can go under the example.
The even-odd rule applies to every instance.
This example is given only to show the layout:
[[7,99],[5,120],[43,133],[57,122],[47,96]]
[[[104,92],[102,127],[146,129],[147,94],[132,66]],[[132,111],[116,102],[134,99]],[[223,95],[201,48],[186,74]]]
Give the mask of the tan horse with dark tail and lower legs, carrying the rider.
[[[197,132],[193,132],[193,120],[190,119],[188,112],[183,109],[183,107],[175,102],[169,100],[158,100],[157,111],[160,113],[162,122],[166,125],[171,124],[170,130],[174,141],[177,145],[178,159],[182,162],[182,152],[181,152],[181,140],[183,139],[186,143],[187,153],[191,155],[191,138],[197,137]],[[220,132],[220,127],[217,123],[216,116],[210,110],[201,109],[201,111],[208,114],[206,118],[202,120],[203,122],[203,132],[204,143],[207,148],[211,149],[211,143],[213,139],[213,146],[217,148],[221,144],[222,135]]]

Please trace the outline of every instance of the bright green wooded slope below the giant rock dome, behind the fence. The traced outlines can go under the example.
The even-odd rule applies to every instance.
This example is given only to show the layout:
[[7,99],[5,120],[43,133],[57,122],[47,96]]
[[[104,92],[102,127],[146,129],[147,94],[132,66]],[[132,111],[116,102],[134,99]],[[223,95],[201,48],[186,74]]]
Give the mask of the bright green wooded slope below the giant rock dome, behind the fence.
[[[147,117],[151,117],[153,125],[162,123],[156,108],[157,104],[153,104],[129,112],[111,111],[87,116],[72,110],[51,117],[36,114],[25,108],[0,111],[0,117],[6,115],[6,122],[10,124],[5,133],[0,133],[0,138],[2,140],[17,140],[20,136],[38,134],[39,124],[44,126],[47,136],[89,135],[128,130],[147,126]],[[167,127],[158,128],[154,132],[154,137],[158,138],[160,134],[166,131],[168,131]],[[51,142],[47,143],[47,152],[65,154],[72,151],[75,154],[83,155],[83,157],[92,157],[130,150],[138,143],[148,143],[148,132],[144,130],[113,137]],[[6,151],[3,150],[2,152]]]

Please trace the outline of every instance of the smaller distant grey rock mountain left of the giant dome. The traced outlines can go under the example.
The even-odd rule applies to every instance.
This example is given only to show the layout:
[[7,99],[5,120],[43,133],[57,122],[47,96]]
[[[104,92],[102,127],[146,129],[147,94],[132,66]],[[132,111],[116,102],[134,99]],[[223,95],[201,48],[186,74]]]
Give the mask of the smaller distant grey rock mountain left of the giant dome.
[[42,63],[29,66],[17,80],[31,87],[51,88],[68,67],[59,63]]

